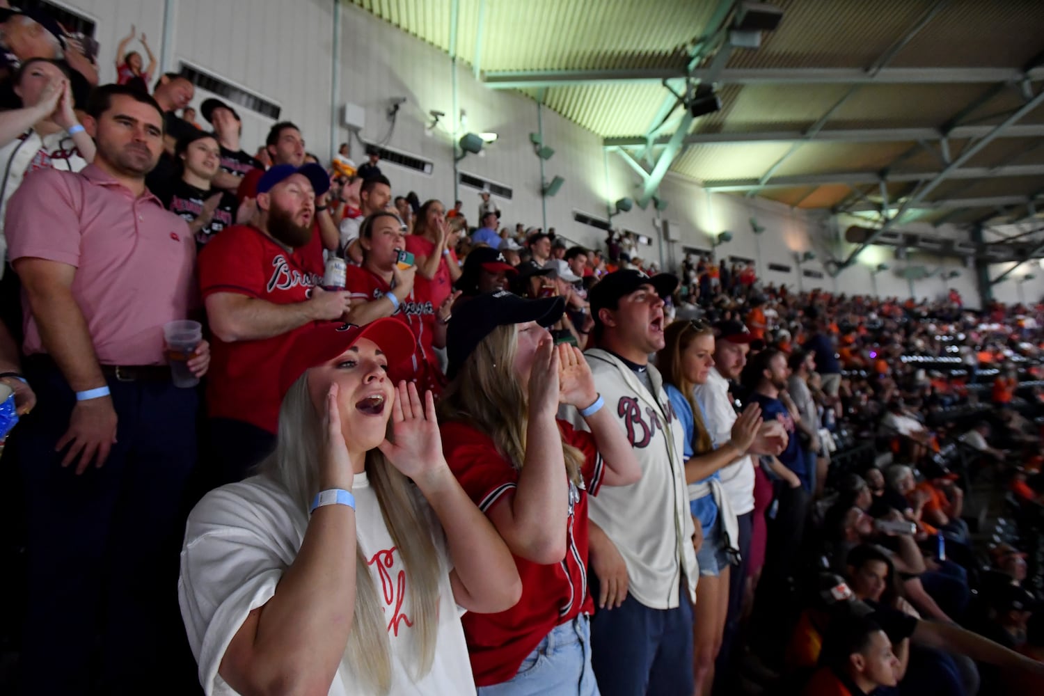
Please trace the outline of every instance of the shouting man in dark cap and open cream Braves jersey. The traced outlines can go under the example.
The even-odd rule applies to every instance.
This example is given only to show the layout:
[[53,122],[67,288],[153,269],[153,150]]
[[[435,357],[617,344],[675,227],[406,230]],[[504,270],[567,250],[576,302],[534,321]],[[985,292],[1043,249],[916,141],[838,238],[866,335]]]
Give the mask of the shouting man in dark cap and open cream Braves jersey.
[[648,364],[648,355],[664,346],[662,297],[677,286],[666,273],[618,270],[589,295],[597,347],[585,356],[642,469],[637,483],[603,488],[590,501],[591,595],[598,604],[591,664],[603,696],[693,690],[698,570],[684,435],[660,373]]

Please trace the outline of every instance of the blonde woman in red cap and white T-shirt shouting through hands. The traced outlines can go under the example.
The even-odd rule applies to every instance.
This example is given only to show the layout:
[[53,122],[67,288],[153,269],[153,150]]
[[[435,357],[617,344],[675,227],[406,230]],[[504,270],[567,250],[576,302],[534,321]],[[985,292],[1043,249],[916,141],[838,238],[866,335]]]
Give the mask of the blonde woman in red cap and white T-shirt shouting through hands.
[[[179,595],[208,694],[466,694],[460,609],[521,583],[446,464],[396,319],[287,347],[275,453],[189,517]],[[390,421],[390,425],[389,425]]]

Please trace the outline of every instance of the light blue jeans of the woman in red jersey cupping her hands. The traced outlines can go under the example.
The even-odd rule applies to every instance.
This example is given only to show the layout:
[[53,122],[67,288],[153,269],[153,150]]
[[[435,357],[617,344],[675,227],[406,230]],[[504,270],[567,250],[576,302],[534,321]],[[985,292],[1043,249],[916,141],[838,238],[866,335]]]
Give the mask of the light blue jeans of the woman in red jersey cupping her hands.
[[591,621],[559,624],[522,661],[509,681],[479,687],[479,696],[599,696],[591,670]]

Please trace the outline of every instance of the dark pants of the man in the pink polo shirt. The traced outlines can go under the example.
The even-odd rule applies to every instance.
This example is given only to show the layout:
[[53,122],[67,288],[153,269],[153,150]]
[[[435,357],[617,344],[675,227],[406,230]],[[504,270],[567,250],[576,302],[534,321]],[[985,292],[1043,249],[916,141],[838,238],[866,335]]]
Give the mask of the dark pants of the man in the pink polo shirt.
[[196,392],[112,380],[117,442],[77,476],[54,446],[75,395],[48,359],[26,361],[38,406],[17,427],[28,596],[24,692],[140,693],[176,681],[182,496],[196,459]]

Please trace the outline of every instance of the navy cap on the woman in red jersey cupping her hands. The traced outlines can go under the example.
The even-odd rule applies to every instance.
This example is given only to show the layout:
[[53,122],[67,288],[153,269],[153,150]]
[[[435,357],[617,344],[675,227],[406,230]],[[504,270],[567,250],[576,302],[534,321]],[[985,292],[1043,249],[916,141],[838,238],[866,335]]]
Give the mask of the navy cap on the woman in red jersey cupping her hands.
[[453,308],[453,318],[446,333],[449,368],[446,377],[453,379],[482,339],[497,327],[536,321],[549,327],[566,311],[562,297],[524,299],[501,290],[476,295]]

